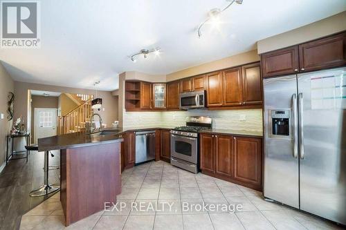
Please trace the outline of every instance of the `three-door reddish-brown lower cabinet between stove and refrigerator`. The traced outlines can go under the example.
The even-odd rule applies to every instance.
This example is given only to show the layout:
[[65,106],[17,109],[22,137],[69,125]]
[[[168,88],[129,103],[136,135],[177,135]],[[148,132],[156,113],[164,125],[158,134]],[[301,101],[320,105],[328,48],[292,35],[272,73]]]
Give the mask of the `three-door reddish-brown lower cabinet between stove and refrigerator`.
[[262,191],[262,138],[201,134],[202,173]]

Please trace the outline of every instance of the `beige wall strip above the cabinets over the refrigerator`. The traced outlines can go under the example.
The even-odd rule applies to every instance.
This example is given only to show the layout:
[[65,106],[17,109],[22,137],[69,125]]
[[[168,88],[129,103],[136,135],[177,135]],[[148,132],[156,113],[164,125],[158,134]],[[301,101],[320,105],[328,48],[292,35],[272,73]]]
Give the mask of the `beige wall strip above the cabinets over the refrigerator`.
[[314,23],[257,41],[258,53],[293,46],[346,30],[346,11]]

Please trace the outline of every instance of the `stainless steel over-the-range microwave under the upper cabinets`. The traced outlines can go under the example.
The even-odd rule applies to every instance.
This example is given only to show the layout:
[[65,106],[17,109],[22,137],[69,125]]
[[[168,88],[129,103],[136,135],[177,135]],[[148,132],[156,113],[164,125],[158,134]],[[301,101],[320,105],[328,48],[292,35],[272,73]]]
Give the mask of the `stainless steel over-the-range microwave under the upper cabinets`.
[[193,91],[179,95],[179,107],[181,109],[206,108],[206,91]]

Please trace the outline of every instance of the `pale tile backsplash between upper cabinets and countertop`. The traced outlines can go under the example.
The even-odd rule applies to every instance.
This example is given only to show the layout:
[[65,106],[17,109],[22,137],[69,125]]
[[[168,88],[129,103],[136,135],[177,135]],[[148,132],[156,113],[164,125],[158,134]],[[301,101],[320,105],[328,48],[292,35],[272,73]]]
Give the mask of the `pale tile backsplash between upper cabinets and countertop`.
[[212,117],[213,128],[263,131],[262,109],[227,111],[208,111],[196,109],[190,111],[125,112],[124,128],[184,126],[185,117],[188,116]]

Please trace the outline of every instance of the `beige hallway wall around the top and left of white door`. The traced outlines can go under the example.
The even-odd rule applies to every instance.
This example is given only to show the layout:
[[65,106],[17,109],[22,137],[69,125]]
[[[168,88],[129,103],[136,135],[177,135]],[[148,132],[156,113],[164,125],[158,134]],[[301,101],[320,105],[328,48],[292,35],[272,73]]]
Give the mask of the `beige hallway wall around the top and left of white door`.
[[57,108],[57,97],[31,96],[31,142],[34,140],[35,108]]

